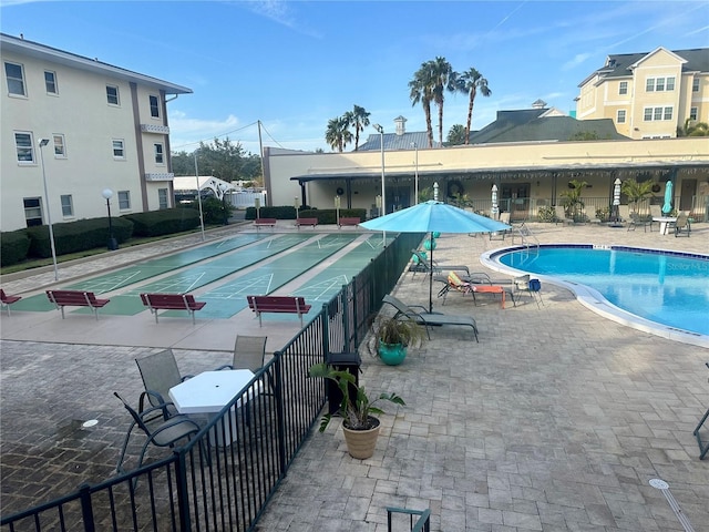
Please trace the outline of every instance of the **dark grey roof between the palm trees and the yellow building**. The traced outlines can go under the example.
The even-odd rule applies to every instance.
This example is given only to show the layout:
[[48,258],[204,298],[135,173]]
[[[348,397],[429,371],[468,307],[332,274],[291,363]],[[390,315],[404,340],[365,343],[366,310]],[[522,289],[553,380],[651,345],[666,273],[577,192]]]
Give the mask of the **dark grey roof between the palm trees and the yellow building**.
[[595,133],[599,140],[624,140],[612,119],[576,120],[547,115],[548,109],[499,111],[497,120],[470,135],[471,144],[497,142],[572,141],[584,133]]

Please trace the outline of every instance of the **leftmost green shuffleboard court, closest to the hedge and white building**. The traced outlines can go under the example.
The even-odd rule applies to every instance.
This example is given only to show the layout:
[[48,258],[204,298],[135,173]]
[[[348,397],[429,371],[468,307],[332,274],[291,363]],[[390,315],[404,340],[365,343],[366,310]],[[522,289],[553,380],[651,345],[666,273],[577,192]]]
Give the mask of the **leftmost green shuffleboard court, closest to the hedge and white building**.
[[[82,280],[81,283],[62,287],[62,289],[86,290],[93,291],[96,295],[106,294],[109,291],[114,291],[125,286],[150,279],[151,277],[163,275],[171,269],[188,266],[191,264],[238,249],[239,247],[258,242],[265,236],[266,235],[239,234],[232,238],[215,242],[206,246],[175,253],[166,257],[152,258],[143,263],[137,263],[133,266],[127,266],[106,275],[101,275],[91,279]],[[49,301],[45,294],[38,294],[35,296],[22,298],[14,304],[12,308],[35,313],[54,310],[54,306]]]

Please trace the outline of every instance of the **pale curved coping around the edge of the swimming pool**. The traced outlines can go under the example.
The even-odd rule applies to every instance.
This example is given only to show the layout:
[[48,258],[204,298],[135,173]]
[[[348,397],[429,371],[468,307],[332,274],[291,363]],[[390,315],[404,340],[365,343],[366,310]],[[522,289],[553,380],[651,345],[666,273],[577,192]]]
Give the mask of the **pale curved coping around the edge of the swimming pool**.
[[[530,246],[524,246],[524,245],[513,245],[510,247],[491,249],[489,252],[483,253],[480,256],[480,262],[483,266],[491,268],[494,272],[500,272],[502,274],[512,275],[512,276],[525,275],[530,272],[515,269],[504,264],[501,264],[494,257],[506,254],[506,253],[525,249],[528,247]],[[595,245],[595,244],[559,243],[559,244],[541,244],[540,247],[575,247],[575,248],[590,248],[590,249],[635,250],[640,253],[655,253],[655,254],[688,256],[693,258],[709,259],[708,255],[701,255],[697,253],[682,253],[682,252],[675,252],[671,249],[655,249],[655,248],[644,248],[644,247],[634,247],[634,246],[617,246],[617,245],[602,246],[602,245]],[[584,307],[617,324],[624,325],[626,327],[631,327],[634,329],[641,330],[644,332],[649,332],[651,335],[659,336],[669,340],[709,348],[709,336],[701,335],[699,332],[678,329],[675,327],[664,326],[661,324],[658,324],[657,321],[650,321],[649,319],[628,313],[627,310],[624,310],[613,305],[603,296],[603,294],[600,294],[598,290],[589,286],[578,284],[578,283],[571,283],[567,280],[559,279],[557,277],[547,276],[543,274],[535,274],[535,273],[530,273],[530,274],[534,275],[536,278],[538,278],[544,283],[549,283],[549,284],[566,288],[567,290],[569,290],[572,294],[576,296],[576,299],[578,300],[578,303],[580,303]]]

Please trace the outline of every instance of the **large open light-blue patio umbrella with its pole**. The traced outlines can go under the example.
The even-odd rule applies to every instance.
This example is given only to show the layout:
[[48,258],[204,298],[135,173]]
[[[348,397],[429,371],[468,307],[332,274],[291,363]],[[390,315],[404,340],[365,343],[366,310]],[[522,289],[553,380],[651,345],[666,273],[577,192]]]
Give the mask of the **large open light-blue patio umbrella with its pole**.
[[[366,229],[395,233],[494,233],[512,228],[507,224],[431,200],[359,224]],[[431,236],[432,238],[433,236]],[[433,249],[431,249],[433,272]],[[429,313],[433,310],[433,275],[429,279]]]

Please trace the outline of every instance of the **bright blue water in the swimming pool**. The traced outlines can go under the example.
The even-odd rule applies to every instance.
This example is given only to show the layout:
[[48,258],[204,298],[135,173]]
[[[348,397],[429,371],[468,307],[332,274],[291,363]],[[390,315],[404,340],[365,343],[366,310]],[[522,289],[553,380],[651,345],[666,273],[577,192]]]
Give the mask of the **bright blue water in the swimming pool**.
[[542,246],[496,257],[524,272],[598,290],[628,313],[709,336],[709,257],[650,249]]

